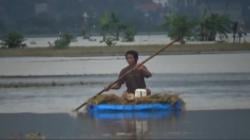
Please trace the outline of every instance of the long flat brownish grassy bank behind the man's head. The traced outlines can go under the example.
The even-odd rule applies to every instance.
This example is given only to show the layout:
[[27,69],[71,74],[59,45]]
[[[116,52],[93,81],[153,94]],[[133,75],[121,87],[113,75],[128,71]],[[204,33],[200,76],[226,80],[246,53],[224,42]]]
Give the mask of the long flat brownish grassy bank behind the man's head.
[[[58,48],[22,48],[0,49],[0,58],[4,57],[97,57],[97,56],[123,56],[128,50],[136,50],[140,55],[151,55],[164,45],[134,45],[114,47],[69,47]],[[195,54],[228,54],[249,53],[250,43],[232,44],[185,44],[173,45],[161,52],[160,55],[195,55]]]

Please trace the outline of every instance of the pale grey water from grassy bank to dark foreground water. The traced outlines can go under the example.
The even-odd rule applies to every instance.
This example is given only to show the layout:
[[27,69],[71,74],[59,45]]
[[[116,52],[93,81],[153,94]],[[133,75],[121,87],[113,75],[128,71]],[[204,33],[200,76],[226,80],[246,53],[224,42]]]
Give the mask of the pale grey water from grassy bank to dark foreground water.
[[[177,92],[188,110],[250,109],[249,60],[249,53],[157,56],[146,64],[153,72],[146,82],[153,92]],[[69,112],[114,81],[125,65],[122,56],[1,58],[0,75],[7,77],[0,85],[12,88],[0,88],[0,112]]]

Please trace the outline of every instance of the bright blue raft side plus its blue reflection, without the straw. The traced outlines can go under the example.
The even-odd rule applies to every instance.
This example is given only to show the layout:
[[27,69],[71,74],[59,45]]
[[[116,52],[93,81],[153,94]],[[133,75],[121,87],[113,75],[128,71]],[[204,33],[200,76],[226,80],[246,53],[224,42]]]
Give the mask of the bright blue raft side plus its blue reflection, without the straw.
[[161,119],[177,115],[183,102],[149,104],[98,104],[88,105],[88,114],[95,119]]

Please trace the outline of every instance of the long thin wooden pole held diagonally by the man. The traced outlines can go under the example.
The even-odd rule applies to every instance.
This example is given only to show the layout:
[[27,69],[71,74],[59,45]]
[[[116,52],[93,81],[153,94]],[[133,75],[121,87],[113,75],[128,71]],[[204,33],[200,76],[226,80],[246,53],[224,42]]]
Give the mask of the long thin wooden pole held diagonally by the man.
[[[100,92],[98,92],[95,96],[93,96],[90,99],[95,99],[97,96],[101,95],[103,92],[109,90],[113,85],[115,85],[117,82],[119,82],[122,78],[124,78],[126,75],[128,75],[130,72],[132,72],[133,70],[139,68],[140,66],[142,66],[143,64],[145,64],[146,62],[148,62],[150,59],[152,59],[153,57],[155,57],[156,55],[158,55],[159,53],[161,53],[162,51],[164,51],[165,49],[167,49],[168,47],[172,46],[175,42],[179,41],[179,39],[176,39],[172,42],[170,42],[168,45],[164,46],[163,48],[161,48],[160,50],[158,50],[157,52],[155,52],[153,55],[151,55],[150,57],[148,57],[147,59],[145,59],[144,61],[142,61],[139,65],[134,66],[132,69],[128,70],[127,72],[125,72],[122,76],[120,76],[116,81],[112,82],[111,84],[109,84],[106,88],[104,88],[103,90],[101,90]],[[89,99],[89,100],[90,100]],[[89,101],[88,100],[88,101]],[[81,109],[83,106],[88,104],[88,101],[84,102],[83,104],[81,104],[80,106],[78,106],[76,109],[74,109],[74,111],[78,111],[79,109]]]

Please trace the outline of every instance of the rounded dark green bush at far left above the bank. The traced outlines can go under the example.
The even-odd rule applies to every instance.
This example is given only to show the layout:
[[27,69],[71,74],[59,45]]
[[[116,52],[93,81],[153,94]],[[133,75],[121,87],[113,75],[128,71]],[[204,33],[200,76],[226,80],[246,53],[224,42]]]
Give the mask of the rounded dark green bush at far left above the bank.
[[21,48],[24,47],[23,44],[24,37],[18,32],[10,32],[3,38],[3,45],[7,48]]

